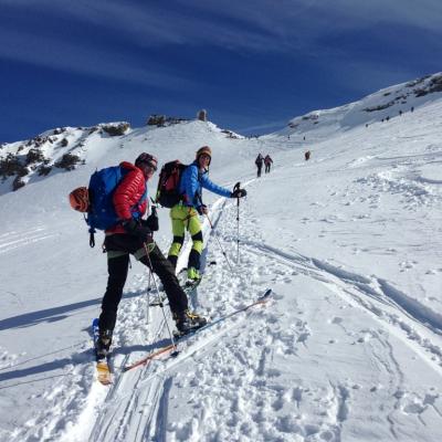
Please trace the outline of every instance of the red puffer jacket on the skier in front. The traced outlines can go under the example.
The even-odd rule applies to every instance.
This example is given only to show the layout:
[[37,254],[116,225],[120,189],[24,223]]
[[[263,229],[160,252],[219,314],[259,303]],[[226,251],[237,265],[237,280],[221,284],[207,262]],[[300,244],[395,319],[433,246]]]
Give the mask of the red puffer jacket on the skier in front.
[[[123,178],[122,182],[117,186],[114,193],[115,211],[122,220],[130,220],[133,218],[134,208],[143,217],[148,208],[148,198],[141,203],[138,201],[146,192],[146,178],[138,167],[130,162],[123,161],[120,165],[128,172]],[[122,224],[117,224],[106,230],[106,234],[112,233],[127,233]]]

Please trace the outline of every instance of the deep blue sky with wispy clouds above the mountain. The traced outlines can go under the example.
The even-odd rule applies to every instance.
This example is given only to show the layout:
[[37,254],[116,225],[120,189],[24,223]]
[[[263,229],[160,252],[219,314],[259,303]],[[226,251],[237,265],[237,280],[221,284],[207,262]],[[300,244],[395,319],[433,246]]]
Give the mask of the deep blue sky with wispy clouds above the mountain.
[[150,114],[263,134],[442,71],[440,0],[0,0],[0,143]]

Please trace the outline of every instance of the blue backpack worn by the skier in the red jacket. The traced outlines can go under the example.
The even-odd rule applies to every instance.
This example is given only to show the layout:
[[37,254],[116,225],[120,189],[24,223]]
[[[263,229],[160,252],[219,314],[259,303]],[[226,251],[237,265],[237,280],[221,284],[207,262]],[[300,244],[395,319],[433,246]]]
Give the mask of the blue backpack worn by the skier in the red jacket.
[[[120,166],[114,166],[97,170],[91,176],[88,186],[90,208],[86,217],[86,223],[90,225],[91,248],[95,245],[95,229],[106,230],[119,222],[113,202],[114,191],[128,171],[129,170],[122,168]],[[138,204],[146,198],[147,186],[144,196],[131,210],[134,218],[140,217]]]

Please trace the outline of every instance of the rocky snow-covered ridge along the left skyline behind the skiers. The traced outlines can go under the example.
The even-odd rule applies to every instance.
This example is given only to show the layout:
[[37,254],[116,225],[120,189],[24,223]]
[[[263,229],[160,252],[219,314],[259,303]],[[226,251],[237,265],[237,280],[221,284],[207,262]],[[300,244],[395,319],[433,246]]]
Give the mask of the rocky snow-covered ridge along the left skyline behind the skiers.
[[160,128],[131,128],[127,122],[115,122],[101,123],[93,127],[55,128],[28,140],[3,144],[0,148],[0,196],[54,173],[74,170],[88,160],[94,161],[99,158],[97,146],[101,146],[102,150],[123,149],[130,145],[134,137],[144,137],[145,141],[151,137],[155,139],[152,134],[158,130],[175,130],[177,137],[180,137],[180,133],[189,134],[189,128],[193,128],[197,136],[201,127],[206,127],[207,133],[221,134],[222,137],[242,138],[231,130],[220,129],[210,122],[179,122]]

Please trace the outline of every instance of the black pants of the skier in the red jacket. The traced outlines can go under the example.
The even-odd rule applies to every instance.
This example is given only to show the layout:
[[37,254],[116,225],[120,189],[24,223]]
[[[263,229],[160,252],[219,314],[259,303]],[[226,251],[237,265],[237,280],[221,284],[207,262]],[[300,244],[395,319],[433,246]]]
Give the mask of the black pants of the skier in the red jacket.
[[[102,302],[102,314],[99,315],[99,328],[113,330],[117,319],[118,304],[122,301],[123,288],[126,283],[127,272],[129,267],[129,254],[143,251],[143,242],[134,235],[117,233],[105,239],[105,248],[109,253],[107,259],[107,288]],[[112,257],[113,252],[122,252],[118,256]],[[159,276],[172,313],[180,313],[188,308],[186,293],[182,291],[175,269],[170,262],[164,256],[158,245],[139,260],[143,264],[150,267]]]

